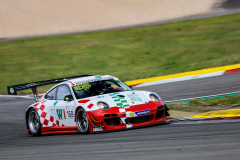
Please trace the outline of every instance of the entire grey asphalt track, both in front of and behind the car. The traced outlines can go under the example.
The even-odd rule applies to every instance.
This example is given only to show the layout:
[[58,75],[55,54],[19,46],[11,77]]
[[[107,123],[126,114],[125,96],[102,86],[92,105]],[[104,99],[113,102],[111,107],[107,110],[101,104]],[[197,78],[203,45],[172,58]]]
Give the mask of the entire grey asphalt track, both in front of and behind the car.
[[[239,91],[240,73],[142,87],[163,100]],[[140,88],[138,88],[140,89]],[[177,122],[99,134],[29,136],[33,100],[0,97],[0,159],[239,159],[239,120]]]

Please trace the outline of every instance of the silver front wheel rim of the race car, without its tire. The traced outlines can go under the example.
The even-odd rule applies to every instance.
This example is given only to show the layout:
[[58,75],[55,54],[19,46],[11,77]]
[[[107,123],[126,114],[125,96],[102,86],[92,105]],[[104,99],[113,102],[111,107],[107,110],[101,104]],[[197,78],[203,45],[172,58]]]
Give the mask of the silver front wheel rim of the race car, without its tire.
[[86,112],[80,110],[77,115],[77,127],[80,132],[85,133],[88,129],[88,118]]

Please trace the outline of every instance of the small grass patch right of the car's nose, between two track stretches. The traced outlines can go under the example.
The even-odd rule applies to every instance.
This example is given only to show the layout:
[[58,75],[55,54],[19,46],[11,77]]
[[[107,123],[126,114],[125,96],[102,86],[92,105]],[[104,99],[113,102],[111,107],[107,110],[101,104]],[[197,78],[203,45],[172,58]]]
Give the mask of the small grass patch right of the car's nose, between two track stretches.
[[170,110],[186,112],[208,112],[215,110],[240,108],[240,95],[213,99],[190,100],[189,103],[169,103]]

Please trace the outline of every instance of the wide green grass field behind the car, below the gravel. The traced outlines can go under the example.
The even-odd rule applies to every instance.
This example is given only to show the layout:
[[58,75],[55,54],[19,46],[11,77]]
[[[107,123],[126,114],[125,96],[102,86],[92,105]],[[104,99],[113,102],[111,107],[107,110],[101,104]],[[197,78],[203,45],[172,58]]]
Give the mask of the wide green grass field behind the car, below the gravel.
[[234,14],[1,42],[0,93],[6,94],[8,85],[80,74],[110,74],[127,81],[237,64],[240,62],[239,24],[240,14]]

